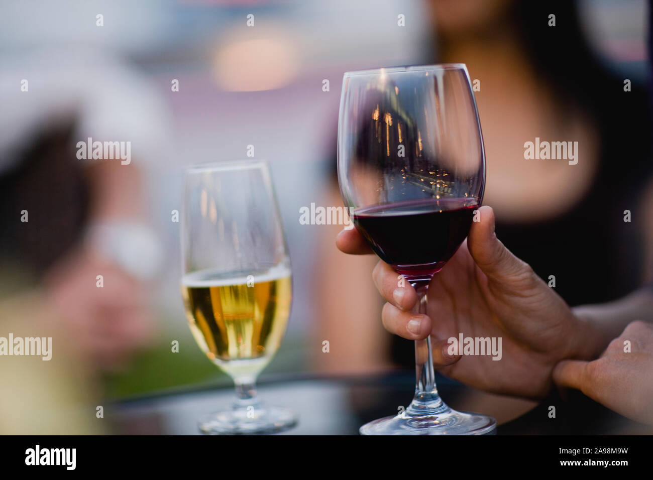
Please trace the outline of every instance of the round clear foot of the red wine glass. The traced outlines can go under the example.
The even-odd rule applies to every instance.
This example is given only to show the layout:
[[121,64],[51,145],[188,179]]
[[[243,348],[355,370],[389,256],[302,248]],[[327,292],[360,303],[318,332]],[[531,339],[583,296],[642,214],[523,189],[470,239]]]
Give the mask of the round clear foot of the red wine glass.
[[480,413],[464,413],[443,404],[432,415],[384,417],[360,427],[361,435],[494,435],[496,420]]

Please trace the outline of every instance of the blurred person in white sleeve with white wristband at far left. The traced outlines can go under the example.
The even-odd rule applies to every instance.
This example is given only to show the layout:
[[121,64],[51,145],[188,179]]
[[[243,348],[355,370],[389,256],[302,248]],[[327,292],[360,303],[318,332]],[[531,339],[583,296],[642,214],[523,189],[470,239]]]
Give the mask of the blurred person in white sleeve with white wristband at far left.
[[[53,419],[99,394],[97,374],[125,366],[153,337],[146,280],[160,247],[140,165],[157,157],[165,109],[147,82],[103,52],[30,52],[3,65],[0,327],[3,336],[52,336],[53,352],[37,364],[3,359],[3,377],[22,382],[0,401],[0,430],[93,432],[80,419]],[[129,158],[89,158],[78,145],[89,138],[129,142]],[[39,387],[44,379],[50,389]],[[25,419],[35,410],[42,415]]]

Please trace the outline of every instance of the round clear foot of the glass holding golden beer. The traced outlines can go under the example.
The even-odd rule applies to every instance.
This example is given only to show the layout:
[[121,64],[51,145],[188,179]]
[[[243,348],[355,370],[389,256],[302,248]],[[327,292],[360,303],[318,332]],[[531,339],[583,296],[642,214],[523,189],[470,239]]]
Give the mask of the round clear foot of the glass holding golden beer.
[[293,428],[297,415],[289,408],[258,405],[204,415],[198,421],[206,435],[274,434]]

